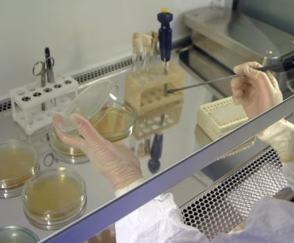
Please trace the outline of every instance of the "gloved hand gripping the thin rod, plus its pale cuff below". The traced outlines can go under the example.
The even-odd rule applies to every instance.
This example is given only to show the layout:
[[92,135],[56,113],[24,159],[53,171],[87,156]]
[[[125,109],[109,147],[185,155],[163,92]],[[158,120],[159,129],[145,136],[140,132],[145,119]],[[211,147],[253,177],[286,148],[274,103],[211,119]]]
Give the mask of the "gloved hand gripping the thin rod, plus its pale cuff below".
[[[231,81],[234,103],[243,106],[249,119],[283,100],[282,92],[273,74],[254,69],[258,67],[262,67],[258,62],[245,62],[234,67],[236,74],[244,73],[245,76],[232,78]],[[270,144],[277,151],[282,162],[294,160],[294,125],[290,122],[281,119],[257,134],[257,137]]]

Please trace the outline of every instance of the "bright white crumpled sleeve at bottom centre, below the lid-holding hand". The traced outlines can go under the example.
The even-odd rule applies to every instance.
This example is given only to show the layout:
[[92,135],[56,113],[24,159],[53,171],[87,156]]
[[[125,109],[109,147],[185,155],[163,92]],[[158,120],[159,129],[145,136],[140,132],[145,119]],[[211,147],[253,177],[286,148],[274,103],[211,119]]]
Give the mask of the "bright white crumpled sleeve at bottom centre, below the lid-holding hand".
[[197,228],[187,226],[171,193],[162,194],[115,224],[117,243],[208,243]]

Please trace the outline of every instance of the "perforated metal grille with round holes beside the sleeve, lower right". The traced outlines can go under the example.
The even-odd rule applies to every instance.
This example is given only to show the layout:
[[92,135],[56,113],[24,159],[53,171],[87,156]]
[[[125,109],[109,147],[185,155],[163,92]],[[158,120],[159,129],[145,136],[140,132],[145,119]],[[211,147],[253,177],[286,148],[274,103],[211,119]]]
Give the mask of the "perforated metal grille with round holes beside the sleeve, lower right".
[[282,164],[270,149],[182,208],[184,223],[212,240],[246,219],[257,200],[275,195],[285,185]]

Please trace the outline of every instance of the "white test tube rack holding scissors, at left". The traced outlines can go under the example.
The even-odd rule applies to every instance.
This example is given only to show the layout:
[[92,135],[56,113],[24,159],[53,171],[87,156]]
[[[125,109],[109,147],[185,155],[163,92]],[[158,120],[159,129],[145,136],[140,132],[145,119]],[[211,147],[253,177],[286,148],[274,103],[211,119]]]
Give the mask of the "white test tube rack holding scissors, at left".
[[62,112],[69,106],[71,97],[78,94],[78,81],[69,76],[59,76],[54,83],[46,83],[44,87],[40,87],[40,82],[33,82],[12,89],[9,94],[12,119],[27,135],[32,135],[52,124],[53,112]]

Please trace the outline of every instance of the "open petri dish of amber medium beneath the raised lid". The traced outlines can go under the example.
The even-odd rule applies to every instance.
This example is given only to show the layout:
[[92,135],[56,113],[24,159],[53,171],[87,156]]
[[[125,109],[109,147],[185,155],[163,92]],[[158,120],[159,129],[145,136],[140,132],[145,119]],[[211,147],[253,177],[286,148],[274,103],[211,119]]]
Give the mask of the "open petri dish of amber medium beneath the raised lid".
[[130,106],[114,102],[94,128],[105,139],[117,142],[130,136],[135,130],[137,112]]

